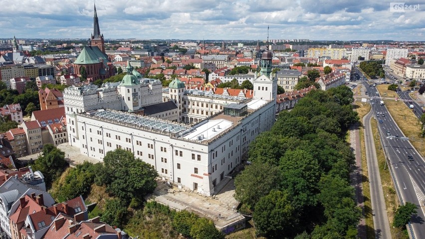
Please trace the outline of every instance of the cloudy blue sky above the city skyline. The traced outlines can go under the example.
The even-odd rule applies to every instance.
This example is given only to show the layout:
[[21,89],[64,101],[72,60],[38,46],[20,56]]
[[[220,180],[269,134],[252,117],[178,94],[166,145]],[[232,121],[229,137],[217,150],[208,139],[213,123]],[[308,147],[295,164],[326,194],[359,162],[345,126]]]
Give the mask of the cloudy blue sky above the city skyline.
[[[1,0],[0,38],[88,38],[93,2]],[[96,9],[106,39],[256,40],[270,25],[270,39],[424,41],[424,0],[405,4],[410,9],[380,0],[98,0]]]

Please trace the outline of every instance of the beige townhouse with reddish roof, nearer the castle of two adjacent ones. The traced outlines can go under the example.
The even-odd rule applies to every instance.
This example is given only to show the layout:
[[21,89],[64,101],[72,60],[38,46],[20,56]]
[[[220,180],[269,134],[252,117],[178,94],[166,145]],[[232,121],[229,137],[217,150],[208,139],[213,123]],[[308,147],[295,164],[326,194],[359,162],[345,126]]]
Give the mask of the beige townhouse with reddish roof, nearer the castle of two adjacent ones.
[[24,121],[22,129],[26,134],[26,141],[28,145],[28,154],[39,153],[43,148],[43,142],[41,139],[41,125],[38,121]]

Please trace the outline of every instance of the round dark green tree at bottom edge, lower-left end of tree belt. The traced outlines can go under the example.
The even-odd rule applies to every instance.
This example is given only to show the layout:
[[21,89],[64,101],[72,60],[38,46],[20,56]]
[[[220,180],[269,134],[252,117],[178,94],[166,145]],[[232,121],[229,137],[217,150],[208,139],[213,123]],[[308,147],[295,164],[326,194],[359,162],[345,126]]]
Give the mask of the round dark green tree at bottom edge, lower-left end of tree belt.
[[286,192],[271,191],[255,205],[252,219],[259,234],[267,238],[285,238],[291,234],[294,213]]

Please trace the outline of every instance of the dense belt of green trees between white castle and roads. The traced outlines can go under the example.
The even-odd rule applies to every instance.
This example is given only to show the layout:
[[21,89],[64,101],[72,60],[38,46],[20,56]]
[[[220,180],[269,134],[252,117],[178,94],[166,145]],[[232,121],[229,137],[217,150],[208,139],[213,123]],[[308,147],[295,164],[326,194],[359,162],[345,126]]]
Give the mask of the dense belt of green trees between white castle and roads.
[[240,211],[267,238],[356,238],[361,209],[349,184],[354,155],[345,141],[359,120],[346,86],[314,90],[248,151],[252,165],[235,178]]

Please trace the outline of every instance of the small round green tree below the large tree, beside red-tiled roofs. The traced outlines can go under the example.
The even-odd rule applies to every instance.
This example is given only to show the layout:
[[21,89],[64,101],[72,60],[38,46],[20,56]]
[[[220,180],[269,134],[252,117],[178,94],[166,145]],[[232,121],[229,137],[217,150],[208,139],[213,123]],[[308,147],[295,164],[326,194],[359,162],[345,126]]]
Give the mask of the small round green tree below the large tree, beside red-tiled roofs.
[[127,222],[128,211],[125,203],[120,199],[106,200],[101,220],[112,227],[123,228]]

